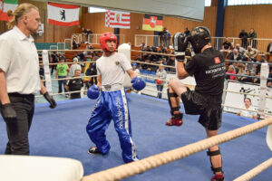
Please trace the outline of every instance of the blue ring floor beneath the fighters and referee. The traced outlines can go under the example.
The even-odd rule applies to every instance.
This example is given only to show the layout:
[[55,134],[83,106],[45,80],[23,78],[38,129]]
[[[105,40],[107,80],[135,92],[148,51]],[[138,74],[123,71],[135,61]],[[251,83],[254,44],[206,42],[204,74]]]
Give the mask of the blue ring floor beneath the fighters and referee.
[[[167,100],[159,100],[135,93],[128,95],[131,112],[132,138],[136,143],[140,158],[150,157],[174,148],[206,138],[205,129],[198,123],[198,116],[184,116],[181,127],[167,127],[170,118]],[[48,104],[36,104],[34,121],[29,133],[30,151],[33,156],[71,157],[83,163],[84,175],[102,171],[123,164],[117,133],[110,125],[106,132],[112,149],[106,156],[89,155],[92,142],[88,138],[85,126],[92,112],[95,100],[62,100],[56,109]],[[238,129],[253,123],[232,114],[223,114],[220,133]],[[241,138],[221,144],[223,169],[226,181],[244,174],[272,157],[267,148],[267,128],[259,129]],[[0,117],[0,153],[5,151],[7,141],[5,122]],[[130,181],[209,181],[212,176],[209,157],[206,151],[157,167],[143,174],[131,176]],[[271,181],[272,167],[254,177],[255,181]]]

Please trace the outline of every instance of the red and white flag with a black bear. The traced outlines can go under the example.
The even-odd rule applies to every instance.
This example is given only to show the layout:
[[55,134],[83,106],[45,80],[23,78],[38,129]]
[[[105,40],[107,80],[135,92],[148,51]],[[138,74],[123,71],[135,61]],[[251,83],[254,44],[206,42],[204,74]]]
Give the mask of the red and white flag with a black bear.
[[62,26],[77,25],[79,24],[79,8],[79,5],[48,3],[48,23]]

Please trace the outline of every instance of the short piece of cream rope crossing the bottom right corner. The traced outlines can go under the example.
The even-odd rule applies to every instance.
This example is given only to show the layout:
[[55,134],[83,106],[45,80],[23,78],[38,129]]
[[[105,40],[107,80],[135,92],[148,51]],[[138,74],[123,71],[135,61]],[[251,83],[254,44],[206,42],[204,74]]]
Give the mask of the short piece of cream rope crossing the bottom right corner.
[[248,181],[251,178],[253,178],[254,176],[257,176],[259,173],[263,172],[264,170],[266,170],[268,167],[271,167],[271,166],[272,166],[272,157],[267,159],[267,161],[261,163],[257,167],[252,168],[244,175],[238,176],[233,181]]

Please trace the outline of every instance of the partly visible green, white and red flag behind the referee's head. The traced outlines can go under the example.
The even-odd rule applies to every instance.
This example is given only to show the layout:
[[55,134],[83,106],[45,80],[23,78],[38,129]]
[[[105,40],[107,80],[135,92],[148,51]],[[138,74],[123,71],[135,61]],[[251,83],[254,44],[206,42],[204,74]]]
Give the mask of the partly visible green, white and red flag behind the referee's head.
[[12,16],[8,16],[8,10],[15,11],[18,5],[18,0],[0,0],[0,21],[8,21]]

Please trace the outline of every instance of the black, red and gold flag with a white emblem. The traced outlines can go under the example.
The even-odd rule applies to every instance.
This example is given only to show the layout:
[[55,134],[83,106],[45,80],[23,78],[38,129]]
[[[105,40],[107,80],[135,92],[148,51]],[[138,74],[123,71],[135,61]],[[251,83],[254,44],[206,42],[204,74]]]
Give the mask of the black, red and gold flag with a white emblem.
[[144,14],[142,30],[161,32],[162,31],[162,16]]

